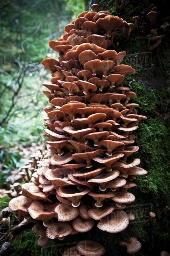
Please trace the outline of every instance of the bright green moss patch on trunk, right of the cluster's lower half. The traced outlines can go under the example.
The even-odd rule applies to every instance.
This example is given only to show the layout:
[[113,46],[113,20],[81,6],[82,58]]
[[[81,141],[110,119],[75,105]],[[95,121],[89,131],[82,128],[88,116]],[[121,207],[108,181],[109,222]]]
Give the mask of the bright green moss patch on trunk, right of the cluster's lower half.
[[137,144],[140,147],[138,156],[142,167],[148,171],[147,178],[138,179],[138,189],[152,191],[160,197],[168,198],[168,180],[170,178],[169,134],[165,123],[159,118],[148,118],[148,123],[141,123],[137,133]]

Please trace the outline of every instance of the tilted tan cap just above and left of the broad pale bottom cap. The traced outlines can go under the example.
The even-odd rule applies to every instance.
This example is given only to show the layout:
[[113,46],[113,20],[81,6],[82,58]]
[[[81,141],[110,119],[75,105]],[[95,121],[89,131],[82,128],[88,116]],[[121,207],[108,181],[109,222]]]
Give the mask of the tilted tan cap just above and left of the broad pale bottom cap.
[[101,208],[97,208],[97,209],[92,208],[88,210],[88,215],[94,220],[101,220],[105,216],[111,214],[114,211],[114,209],[115,209],[114,206],[109,206],[109,207],[102,206]]

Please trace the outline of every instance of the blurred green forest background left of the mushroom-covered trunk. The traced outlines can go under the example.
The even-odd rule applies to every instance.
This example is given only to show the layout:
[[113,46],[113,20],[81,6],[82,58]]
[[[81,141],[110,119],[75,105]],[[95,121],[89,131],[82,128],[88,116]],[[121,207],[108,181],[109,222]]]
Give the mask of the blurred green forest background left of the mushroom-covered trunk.
[[1,188],[9,183],[5,176],[24,165],[26,160],[22,157],[30,154],[30,147],[33,150],[44,142],[43,107],[48,100],[41,84],[48,81],[50,74],[41,61],[56,58],[48,41],[59,38],[65,25],[89,8],[88,0],[0,3]]

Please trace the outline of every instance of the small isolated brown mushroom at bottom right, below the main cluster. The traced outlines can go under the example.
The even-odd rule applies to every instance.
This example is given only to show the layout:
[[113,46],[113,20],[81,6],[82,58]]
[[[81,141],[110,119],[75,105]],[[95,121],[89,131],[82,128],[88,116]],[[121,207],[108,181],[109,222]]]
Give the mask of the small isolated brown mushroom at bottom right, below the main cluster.
[[138,252],[142,247],[142,244],[139,241],[137,241],[136,237],[131,237],[127,242],[120,242],[119,245],[126,246],[127,253],[129,254]]

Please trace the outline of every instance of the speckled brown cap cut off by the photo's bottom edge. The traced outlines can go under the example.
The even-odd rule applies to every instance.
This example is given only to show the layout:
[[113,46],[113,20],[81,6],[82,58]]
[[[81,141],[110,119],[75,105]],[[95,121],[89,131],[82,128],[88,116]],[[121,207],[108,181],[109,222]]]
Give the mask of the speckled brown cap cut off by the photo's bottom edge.
[[84,240],[77,244],[76,249],[78,252],[80,252],[82,255],[86,256],[100,256],[105,253],[104,247],[91,240]]

